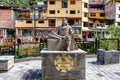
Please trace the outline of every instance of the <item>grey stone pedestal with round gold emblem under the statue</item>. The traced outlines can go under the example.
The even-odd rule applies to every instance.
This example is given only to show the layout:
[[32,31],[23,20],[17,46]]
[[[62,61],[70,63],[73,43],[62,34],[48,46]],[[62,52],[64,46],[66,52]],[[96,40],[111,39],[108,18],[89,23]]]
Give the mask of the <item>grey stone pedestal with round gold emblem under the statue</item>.
[[85,80],[85,51],[48,51],[43,49],[42,80]]

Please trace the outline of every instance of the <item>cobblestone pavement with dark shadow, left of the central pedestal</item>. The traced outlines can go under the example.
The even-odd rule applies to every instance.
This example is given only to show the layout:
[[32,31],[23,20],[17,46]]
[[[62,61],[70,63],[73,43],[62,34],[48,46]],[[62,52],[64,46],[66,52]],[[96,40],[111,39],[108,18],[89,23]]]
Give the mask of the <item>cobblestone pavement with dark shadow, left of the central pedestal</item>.
[[41,60],[15,63],[8,72],[0,72],[0,80],[41,80]]

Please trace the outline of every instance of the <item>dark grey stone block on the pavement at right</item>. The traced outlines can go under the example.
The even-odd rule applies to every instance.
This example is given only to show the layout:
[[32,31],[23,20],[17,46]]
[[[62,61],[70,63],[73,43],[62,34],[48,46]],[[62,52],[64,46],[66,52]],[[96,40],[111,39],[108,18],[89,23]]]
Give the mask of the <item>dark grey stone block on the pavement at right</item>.
[[120,51],[103,49],[97,50],[97,62],[100,64],[115,64],[120,62]]

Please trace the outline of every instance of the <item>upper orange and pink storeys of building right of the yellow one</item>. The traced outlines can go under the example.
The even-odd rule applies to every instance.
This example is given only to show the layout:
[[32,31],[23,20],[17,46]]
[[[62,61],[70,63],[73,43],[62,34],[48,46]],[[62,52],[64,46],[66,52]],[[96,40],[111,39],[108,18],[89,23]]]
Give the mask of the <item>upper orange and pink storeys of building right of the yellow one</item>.
[[89,27],[96,28],[105,24],[104,0],[89,0]]

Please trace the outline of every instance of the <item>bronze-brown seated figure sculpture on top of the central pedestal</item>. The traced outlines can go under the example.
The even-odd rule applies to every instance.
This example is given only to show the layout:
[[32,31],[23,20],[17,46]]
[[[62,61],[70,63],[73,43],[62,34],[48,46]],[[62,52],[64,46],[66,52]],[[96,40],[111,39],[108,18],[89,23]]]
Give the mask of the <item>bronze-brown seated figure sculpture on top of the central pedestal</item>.
[[48,50],[71,51],[78,49],[73,38],[73,31],[66,19],[63,19],[62,26],[52,30],[48,37]]

